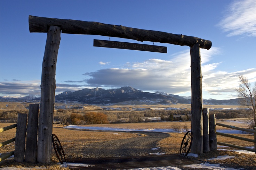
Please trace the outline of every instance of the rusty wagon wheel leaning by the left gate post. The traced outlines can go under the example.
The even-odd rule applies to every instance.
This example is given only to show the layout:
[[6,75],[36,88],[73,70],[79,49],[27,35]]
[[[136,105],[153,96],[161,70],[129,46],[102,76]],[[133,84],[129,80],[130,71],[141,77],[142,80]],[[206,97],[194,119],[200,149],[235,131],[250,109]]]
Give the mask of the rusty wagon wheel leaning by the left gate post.
[[53,135],[51,135],[51,139],[53,141],[53,148],[54,148],[54,151],[57,155],[59,162],[61,164],[63,164],[64,162],[67,162],[63,148],[61,146],[61,142],[59,142],[58,137],[55,134],[53,134]]

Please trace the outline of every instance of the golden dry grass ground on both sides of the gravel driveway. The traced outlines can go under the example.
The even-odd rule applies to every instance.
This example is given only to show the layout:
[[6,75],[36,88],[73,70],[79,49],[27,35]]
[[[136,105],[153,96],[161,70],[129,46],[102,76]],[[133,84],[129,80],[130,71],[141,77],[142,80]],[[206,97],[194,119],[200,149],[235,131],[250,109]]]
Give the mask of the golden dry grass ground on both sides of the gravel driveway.
[[[242,124],[237,123],[238,120],[229,120],[229,121],[221,121],[219,122],[223,124],[228,124],[232,126],[238,126]],[[241,121],[241,120],[239,120]],[[1,127],[9,126],[11,124],[0,124]],[[178,125],[181,127],[188,126],[190,127],[190,122],[149,122],[149,123],[135,123],[135,124],[105,124],[105,125],[81,125],[81,126],[104,126],[104,127],[114,127],[114,128],[130,128],[130,129],[148,129],[148,128],[168,128],[170,129],[172,126]],[[241,127],[241,126],[239,126]],[[218,127],[217,129],[225,129],[223,127]],[[106,140],[117,140],[117,139],[124,139],[124,138],[134,138],[140,137],[140,135],[136,133],[125,133],[125,132],[108,132],[108,131],[88,131],[88,130],[72,130],[63,128],[62,125],[55,125],[53,127],[53,133],[56,134],[59,140],[62,143],[63,150],[66,154],[67,158],[83,158],[86,157],[87,153],[83,153],[83,147],[87,144],[93,142],[100,142]],[[158,147],[161,147],[162,151],[166,154],[178,154],[179,147],[181,145],[182,138],[184,133],[169,133],[170,137],[162,139],[158,142]],[[1,142],[6,141],[10,138],[15,136],[15,129],[11,129],[8,131],[4,131],[1,133]],[[253,139],[253,135],[249,134],[237,134],[237,136],[242,136],[246,138]],[[219,142],[231,143],[240,146],[253,146],[253,143],[240,141],[238,139],[230,139],[227,137],[217,136],[217,140]],[[5,145],[0,148],[0,153],[7,153],[14,150],[14,143]],[[104,148],[103,148],[104,149]],[[231,148],[228,148],[231,149]],[[234,155],[234,159],[229,160],[218,160],[218,161],[211,161],[213,163],[223,163],[229,167],[236,165],[240,166],[245,169],[251,169],[251,166],[256,166],[256,156],[251,156],[248,154],[238,154],[230,151],[216,151],[216,152],[209,152],[207,154],[203,154],[199,156],[199,159],[209,159],[219,155]],[[245,162],[245,159],[247,160]],[[60,168],[57,163],[57,159],[55,153],[53,152],[53,163],[51,164],[29,164],[29,163],[16,163],[12,159],[4,160],[0,164],[0,167],[6,166],[15,166],[15,167],[48,167],[47,169],[58,170],[58,169],[67,169],[67,168]]]

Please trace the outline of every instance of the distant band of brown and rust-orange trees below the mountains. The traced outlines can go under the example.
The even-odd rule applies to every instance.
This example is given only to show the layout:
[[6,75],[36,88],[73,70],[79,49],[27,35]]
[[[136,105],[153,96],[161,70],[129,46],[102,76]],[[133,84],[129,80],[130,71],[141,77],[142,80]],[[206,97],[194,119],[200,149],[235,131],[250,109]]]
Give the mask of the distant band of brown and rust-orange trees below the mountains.
[[[17,122],[18,113],[28,113],[28,110],[0,110],[1,122]],[[250,110],[210,110],[217,119],[249,118]],[[159,119],[150,119],[160,117]],[[189,121],[189,110],[145,110],[145,111],[105,111],[90,112],[75,109],[58,109],[54,112],[54,122],[65,125],[136,123],[150,121]]]

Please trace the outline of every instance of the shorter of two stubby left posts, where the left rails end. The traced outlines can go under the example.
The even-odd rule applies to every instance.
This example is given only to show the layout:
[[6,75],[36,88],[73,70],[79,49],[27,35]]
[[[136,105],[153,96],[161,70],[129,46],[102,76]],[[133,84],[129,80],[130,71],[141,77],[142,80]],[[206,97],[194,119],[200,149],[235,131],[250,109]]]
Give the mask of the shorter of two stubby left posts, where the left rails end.
[[26,142],[27,114],[18,113],[17,130],[15,136],[14,160],[24,161],[25,142]]

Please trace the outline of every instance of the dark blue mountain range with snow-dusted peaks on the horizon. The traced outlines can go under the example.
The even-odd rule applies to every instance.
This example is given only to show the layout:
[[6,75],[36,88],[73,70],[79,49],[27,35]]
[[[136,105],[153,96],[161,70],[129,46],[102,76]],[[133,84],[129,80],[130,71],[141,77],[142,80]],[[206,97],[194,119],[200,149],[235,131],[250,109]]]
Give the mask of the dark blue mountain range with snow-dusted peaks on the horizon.
[[[239,99],[230,100],[206,100],[203,104],[213,105],[239,105]],[[40,97],[25,96],[21,98],[4,98],[0,97],[0,101],[40,101]],[[165,92],[143,92],[131,86],[104,90],[103,88],[85,88],[75,92],[65,91],[55,96],[56,103],[76,102],[84,104],[128,104],[136,101],[137,104],[190,104],[191,97],[168,94]]]

